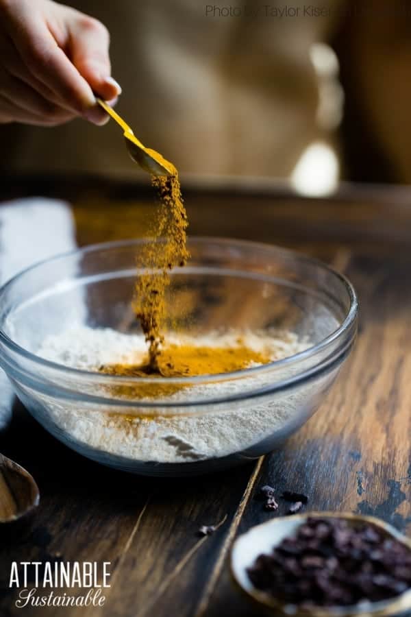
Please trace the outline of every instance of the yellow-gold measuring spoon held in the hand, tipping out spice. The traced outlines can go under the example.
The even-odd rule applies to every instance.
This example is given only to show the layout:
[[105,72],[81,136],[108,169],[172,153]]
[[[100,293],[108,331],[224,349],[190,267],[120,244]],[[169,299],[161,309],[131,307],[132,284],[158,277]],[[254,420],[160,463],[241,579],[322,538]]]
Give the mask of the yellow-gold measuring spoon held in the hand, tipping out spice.
[[146,148],[140,141],[134,136],[132,129],[127,123],[101,99],[96,99],[99,106],[103,108],[117,124],[121,126],[124,131],[125,145],[132,159],[140,165],[144,171],[148,171],[152,176],[173,176],[173,165],[169,161],[162,158],[158,152],[151,148]]

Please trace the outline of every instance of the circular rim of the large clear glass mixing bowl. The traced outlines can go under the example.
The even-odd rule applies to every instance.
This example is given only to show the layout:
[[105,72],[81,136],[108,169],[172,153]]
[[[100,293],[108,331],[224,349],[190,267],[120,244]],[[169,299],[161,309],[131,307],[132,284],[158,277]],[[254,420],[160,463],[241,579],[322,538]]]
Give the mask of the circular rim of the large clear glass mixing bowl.
[[[103,243],[86,245],[84,247],[79,247],[79,248],[76,248],[70,251],[66,251],[60,254],[55,254],[51,257],[42,259],[41,261],[38,261],[30,265],[29,267],[26,267],[25,269],[21,270],[16,275],[14,275],[12,278],[10,278],[8,281],[6,281],[3,285],[1,285],[0,302],[1,302],[2,296],[5,293],[7,293],[8,289],[10,289],[10,287],[12,287],[20,278],[25,276],[29,271],[33,271],[35,269],[42,267],[42,265],[46,265],[47,263],[58,261],[64,258],[73,257],[76,255],[81,256],[84,254],[99,252],[102,250],[120,249],[123,247],[138,246],[138,245],[142,245],[145,243],[147,243],[147,238],[126,239],[126,240],[119,240],[119,241],[103,242]],[[191,376],[191,377],[162,378],[162,383],[175,384],[175,385],[177,384],[199,385],[201,383],[210,383],[210,382],[217,382],[221,380],[245,378],[247,376],[256,375],[256,374],[264,374],[266,372],[272,371],[273,368],[281,368],[286,365],[297,364],[299,363],[299,361],[304,361],[306,359],[309,359],[312,356],[315,356],[317,353],[323,351],[325,348],[332,346],[332,343],[334,343],[334,341],[342,337],[342,335],[344,335],[345,332],[349,332],[351,327],[356,323],[359,304],[358,304],[358,296],[356,294],[356,291],[353,285],[351,284],[351,282],[348,280],[348,278],[344,274],[341,274],[339,271],[327,265],[327,263],[324,263],[320,259],[316,257],[308,256],[298,251],[290,250],[284,247],[278,247],[277,245],[264,243],[264,242],[254,242],[254,241],[242,240],[242,239],[208,237],[208,236],[188,237],[189,246],[190,244],[201,245],[201,244],[207,244],[207,243],[217,243],[220,245],[231,245],[232,247],[248,247],[248,248],[256,247],[260,250],[274,251],[279,256],[284,256],[284,258],[287,258],[287,257],[293,258],[299,261],[300,263],[308,263],[310,265],[317,266],[329,272],[329,274],[332,274],[332,276],[340,280],[340,282],[343,284],[343,286],[345,287],[349,295],[349,303],[350,303],[349,311],[345,315],[343,322],[340,324],[340,326],[338,326],[338,328],[336,328],[336,330],[334,330],[334,332],[331,332],[329,335],[327,335],[327,337],[322,339],[319,343],[316,343],[316,345],[310,346],[301,352],[297,352],[297,354],[292,354],[292,356],[287,356],[286,358],[283,358],[280,360],[271,361],[264,365],[260,365],[256,367],[249,367],[247,369],[242,369],[242,370],[233,371],[229,373],[218,373],[218,374],[211,374],[211,375]],[[353,332],[353,336],[354,335],[355,335],[355,332]],[[353,336],[351,338],[353,338]],[[57,362],[53,362],[51,360],[47,360],[32,352],[29,352],[22,346],[18,345],[18,343],[13,341],[13,339],[11,339],[8,335],[5,334],[1,326],[0,326],[0,343],[3,343],[6,348],[10,349],[12,352],[18,354],[19,356],[23,356],[25,359],[31,361],[35,365],[40,365],[42,367],[49,368],[56,372],[64,372],[66,374],[71,374],[73,376],[77,376],[80,379],[83,378],[83,379],[88,379],[88,380],[95,380],[103,384],[104,383],[105,384],[116,383],[118,385],[126,384],[126,383],[128,385],[132,385],[132,384],[141,385],[144,383],[152,383],[152,379],[149,377],[128,377],[128,376],[125,377],[121,375],[110,375],[110,374],[100,373],[96,371],[89,371],[89,370],[69,367],[64,364],[60,364]],[[312,373],[312,368],[309,372],[310,374]],[[301,374],[301,377],[303,377],[304,374],[305,372]],[[281,383],[277,385],[280,387]],[[275,388],[275,383],[272,384],[272,387]]]

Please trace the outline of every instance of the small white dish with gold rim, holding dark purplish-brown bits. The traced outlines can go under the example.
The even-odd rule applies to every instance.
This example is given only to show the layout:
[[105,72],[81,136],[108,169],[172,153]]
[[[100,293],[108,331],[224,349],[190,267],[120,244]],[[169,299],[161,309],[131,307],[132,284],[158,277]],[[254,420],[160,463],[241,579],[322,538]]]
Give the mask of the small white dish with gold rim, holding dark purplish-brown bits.
[[283,617],[388,617],[399,615],[411,609],[411,589],[394,598],[380,602],[360,603],[345,607],[310,607],[301,609],[296,605],[286,605],[275,597],[258,590],[253,586],[247,569],[254,564],[258,555],[271,553],[284,537],[295,535],[297,529],[308,518],[339,518],[346,520],[351,525],[367,522],[373,527],[382,529],[384,535],[404,544],[411,552],[411,540],[399,533],[391,525],[373,518],[372,516],[357,516],[351,513],[310,512],[295,516],[273,518],[256,527],[252,527],[247,533],[240,535],[234,542],[231,555],[231,570],[234,580],[240,589],[258,604],[264,612]]

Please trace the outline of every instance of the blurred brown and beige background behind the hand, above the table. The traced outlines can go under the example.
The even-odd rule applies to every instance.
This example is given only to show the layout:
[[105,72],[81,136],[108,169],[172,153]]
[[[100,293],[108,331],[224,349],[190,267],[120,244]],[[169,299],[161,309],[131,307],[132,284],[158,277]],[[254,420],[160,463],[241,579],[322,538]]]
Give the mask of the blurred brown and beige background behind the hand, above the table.
[[[341,180],[411,181],[408,1],[66,3],[110,29],[117,110],[185,182],[321,196]],[[139,177],[112,122],[0,136],[8,174]]]

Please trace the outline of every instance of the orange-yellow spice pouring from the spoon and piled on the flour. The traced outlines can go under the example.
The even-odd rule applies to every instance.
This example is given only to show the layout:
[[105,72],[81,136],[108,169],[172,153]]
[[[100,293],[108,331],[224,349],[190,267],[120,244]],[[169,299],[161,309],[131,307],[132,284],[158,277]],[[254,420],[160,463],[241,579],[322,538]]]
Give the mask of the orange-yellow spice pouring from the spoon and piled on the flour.
[[[153,237],[143,245],[137,258],[139,274],[136,280],[133,308],[140,321],[148,345],[147,361],[140,364],[112,364],[99,367],[101,372],[130,377],[188,377],[219,374],[241,370],[251,363],[268,363],[266,354],[248,348],[238,339],[236,347],[197,347],[195,345],[167,345],[166,292],[171,284],[170,273],[184,267],[190,254],[186,245],[188,218],[182,199],[177,169],[158,152],[147,152],[160,162],[170,176],[151,176],[159,206],[153,222]],[[142,384],[123,387],[121,392],[140,398],[156,398],[173,394],[184,385]],[[123,391],[124,390],[124,391]]]

